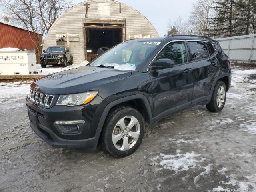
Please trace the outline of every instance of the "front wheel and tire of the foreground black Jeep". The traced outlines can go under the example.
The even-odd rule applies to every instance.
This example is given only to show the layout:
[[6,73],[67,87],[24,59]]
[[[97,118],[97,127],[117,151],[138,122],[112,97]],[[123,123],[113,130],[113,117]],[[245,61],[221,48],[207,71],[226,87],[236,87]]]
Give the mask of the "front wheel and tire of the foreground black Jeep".
[[[129,127],[131,122],[135,124]],[[126,157],[138,149],[144,132],[145,123],[140,112],[129,106],[117,107],[106,118],[100,145],[104,152],[115,158]]]

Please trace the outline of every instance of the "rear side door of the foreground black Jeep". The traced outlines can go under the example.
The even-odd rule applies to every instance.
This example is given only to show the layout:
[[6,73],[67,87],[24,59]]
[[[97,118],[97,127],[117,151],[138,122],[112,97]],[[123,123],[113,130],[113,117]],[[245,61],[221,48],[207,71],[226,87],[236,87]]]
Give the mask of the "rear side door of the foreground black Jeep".
[[192,105],[209,100],[212,82],[219,72],[216,50],[211,43],[187,41],[190,61],[194,67]]

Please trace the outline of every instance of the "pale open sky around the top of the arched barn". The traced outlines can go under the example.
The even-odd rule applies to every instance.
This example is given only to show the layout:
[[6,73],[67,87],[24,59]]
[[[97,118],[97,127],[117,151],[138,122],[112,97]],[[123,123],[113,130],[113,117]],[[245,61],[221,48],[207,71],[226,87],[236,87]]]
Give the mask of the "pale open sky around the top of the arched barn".
[[[73,0],[74,4],[84,0]],[[167,33],[169,20],[174,22],[178,16],[183,19],[190,15],[193,0],[118,0],[141,12],[156,28],[159,36]]]

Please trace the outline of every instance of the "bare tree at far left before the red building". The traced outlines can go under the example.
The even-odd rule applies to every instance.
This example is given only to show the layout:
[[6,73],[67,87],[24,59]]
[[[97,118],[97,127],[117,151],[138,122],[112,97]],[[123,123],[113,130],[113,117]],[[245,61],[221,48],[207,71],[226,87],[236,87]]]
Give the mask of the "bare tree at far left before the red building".
[[42,39],[38,34],[46,35],[54,21],[70,7],[66,0],[1,0],[0,6],[10,21],[26,29],[36,46],[37,62],[42,53]]

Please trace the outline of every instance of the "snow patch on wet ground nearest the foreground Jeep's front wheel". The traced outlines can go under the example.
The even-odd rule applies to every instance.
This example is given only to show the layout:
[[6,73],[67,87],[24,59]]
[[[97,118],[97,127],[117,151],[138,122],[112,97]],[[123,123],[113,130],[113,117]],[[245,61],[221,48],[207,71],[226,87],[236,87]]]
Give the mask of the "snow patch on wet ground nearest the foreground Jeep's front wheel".
[[162,166],[160,169],[170,169],[178,172],[181,170],[187,171],[189,168],[195,167],[199,162],[204,161],[204,158],[196,160],[200,155],[201,154],[195,154],[194,152],[180,154],[180,150],[177,150],[176,155],[160,154],[152,160],[154,164]]

